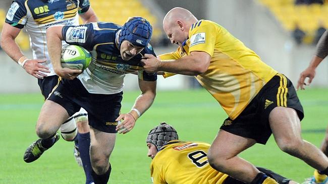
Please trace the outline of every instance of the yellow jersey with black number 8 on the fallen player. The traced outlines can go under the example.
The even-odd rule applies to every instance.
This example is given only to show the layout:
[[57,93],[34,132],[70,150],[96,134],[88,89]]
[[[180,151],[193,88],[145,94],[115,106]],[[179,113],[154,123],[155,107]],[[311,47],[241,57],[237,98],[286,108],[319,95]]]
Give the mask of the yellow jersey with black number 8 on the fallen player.
[[150,164],[153,183],[223,183],[228,175],[209,165],[209,146],[204,142],[170,141],[161,148]]

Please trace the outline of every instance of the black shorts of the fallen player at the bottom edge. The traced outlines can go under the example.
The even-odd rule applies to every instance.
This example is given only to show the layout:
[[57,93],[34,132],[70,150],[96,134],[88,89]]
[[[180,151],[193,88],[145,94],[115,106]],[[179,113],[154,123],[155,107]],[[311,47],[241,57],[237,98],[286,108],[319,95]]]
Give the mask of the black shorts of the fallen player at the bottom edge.
[[[286,177],[279,175],[275,173],[274,171],[271,171],[266,168],[262,167],[256,167],[259,171],[265,173],[267,176],[271,177],[272,179],[275,179],[280,184],[287,184],[291,179],[287,179]],[[237,180],[233,177],[228,176],[222,184],[244,184],[243,181]]]

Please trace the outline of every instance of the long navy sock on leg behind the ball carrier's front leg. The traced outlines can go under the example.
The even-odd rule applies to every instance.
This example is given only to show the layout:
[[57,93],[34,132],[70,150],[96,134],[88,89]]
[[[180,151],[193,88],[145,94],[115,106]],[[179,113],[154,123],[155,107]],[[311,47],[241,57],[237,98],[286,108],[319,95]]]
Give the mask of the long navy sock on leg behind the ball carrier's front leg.
[[86,184],[93,181],[92,167],[90,161],[90,132],[85,134],[78,133],[80,157],[83,163],[83,169],[86,177]]

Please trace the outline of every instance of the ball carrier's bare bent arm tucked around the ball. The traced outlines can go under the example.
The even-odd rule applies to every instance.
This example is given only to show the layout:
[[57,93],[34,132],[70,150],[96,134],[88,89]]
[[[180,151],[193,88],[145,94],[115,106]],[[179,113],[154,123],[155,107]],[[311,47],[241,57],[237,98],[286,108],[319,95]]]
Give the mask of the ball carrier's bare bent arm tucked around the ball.
[[63,26],[53,26],[47,29],[47,47],[54,72],[56,72],[58,76],[72,80],[79,75],[82,70],[62,67],[61,52],[62,40],[64,40],[62,30]]

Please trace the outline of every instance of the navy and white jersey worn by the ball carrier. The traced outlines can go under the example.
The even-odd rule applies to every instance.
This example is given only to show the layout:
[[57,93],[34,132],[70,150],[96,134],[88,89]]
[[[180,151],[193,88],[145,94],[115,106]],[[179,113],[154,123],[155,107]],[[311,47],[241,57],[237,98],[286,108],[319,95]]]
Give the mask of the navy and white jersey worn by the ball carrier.
[[157,74],[148,74],[140,63],[142,55],[155,53],[150,44],[129,61],[124,61],[115,40],[122,26],[114,23],[89,23],[64,26],[62,35],[68,44],[79,45],[90,51],[92,60],[78,78],[92,94],[117,94],[123,90],[126,73],[138,71],[141,80],[155,81]]

